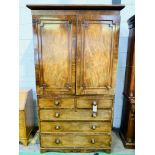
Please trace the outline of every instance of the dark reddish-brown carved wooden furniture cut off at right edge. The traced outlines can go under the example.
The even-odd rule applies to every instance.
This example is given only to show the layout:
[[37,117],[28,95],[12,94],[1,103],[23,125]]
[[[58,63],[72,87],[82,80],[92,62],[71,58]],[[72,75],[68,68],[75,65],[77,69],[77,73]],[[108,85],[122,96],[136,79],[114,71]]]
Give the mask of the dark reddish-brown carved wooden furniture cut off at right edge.
[[135,16],[128,20],[129,39],[120,135],[127,148],[135,147]]

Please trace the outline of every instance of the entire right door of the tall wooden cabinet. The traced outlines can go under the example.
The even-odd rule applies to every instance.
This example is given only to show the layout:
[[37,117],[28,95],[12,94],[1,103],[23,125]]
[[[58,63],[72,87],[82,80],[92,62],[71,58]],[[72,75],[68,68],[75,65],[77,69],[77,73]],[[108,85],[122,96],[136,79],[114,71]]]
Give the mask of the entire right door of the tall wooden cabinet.
[[77,18],[76,94],[114,95],[119,18]]

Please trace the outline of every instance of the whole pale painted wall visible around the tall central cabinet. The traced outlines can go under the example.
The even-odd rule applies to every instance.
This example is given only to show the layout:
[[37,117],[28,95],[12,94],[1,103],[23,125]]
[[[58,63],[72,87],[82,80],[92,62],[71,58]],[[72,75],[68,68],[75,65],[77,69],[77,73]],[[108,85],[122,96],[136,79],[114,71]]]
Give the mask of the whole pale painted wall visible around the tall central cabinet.
[[[20,66],[20,88],[32,88],[34,96],[34,111],[35,122],[37,125],[37,108],[36,108],[36,89],[35,89],[35,71],[34,71],[34,53],[33,53],[33,36],[32,36],[32,18],[31,11],[26,8],[26,4],[51,4],[51,0],[20,0],[20,35],[19,35],[19,66]],[[53,0],[53,4],[112,4],[112,0]],[[122,110],[122,89],[124,82],[124,71],[126,62],[126,48],[128,27],[126,20],[134,13],[134,1],[126,2],[122,0],[123,4],[127,4],[127,7],[122,11],[121,17],[121,31],[120,31],[120,44],[119,44],[119,62],[118,62],[118,74],[116,84],[116,97],[114,107],[114,127],[120,126],[121,110]]]

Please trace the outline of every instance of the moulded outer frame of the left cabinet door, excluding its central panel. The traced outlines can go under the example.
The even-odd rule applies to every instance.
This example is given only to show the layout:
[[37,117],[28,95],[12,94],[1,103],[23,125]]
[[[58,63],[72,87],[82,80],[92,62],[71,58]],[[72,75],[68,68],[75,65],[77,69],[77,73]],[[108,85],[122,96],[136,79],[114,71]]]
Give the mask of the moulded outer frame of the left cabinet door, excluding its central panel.
[[[50,15],[50,16],[33,16],[33,33],[34,33],[34,53],[35,53],[35,73],[37,94],[75,94],[75,46],[74,39],[76,35],[75,29],[76,16],[74,15]],[[42,59],[42,34],[41,30],[44,25],[48,24],[66,24],[68,28],[69,50],[69,78],[63,88],[48,87],[44,81],[44,67]]]

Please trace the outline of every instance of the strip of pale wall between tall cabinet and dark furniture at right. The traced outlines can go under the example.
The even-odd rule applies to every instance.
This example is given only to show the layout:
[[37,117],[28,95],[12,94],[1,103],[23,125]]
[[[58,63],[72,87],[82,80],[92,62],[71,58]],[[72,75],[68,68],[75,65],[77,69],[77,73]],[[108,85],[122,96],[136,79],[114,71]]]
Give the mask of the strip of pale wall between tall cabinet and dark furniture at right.
[[127,44],[128,44],[128,24],[127,20],[135,14],[135,2],[134,0],[122,0],[121,4],[125,4],[125,8],[121,11],[121,24],[120,24],[120,41],[119,41],[119,53],[118,53],[118,67],[117,67],[117,80],[116,80],[116,94],[114,104],[114,123],[116,128],[120,127],[122,104],[123,104],[123,88],[124,88],[124,75],[127,56]]

